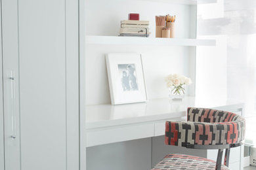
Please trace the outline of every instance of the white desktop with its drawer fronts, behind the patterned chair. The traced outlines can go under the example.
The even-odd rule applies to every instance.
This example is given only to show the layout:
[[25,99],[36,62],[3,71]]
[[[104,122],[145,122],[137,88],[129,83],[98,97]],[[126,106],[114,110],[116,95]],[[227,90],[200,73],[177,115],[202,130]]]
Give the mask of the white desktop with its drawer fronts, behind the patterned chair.
[[[186,97],[182,102],[163,98],[127,105],[87,105],[87,146],[164,135],[165,121],[186,120],[188,107],[223,109],[242,114],[244,105],[226,99],[196,97]],[[124,132],[122,137],[119,133]],[[119,138],[116,137],[118,134]]]

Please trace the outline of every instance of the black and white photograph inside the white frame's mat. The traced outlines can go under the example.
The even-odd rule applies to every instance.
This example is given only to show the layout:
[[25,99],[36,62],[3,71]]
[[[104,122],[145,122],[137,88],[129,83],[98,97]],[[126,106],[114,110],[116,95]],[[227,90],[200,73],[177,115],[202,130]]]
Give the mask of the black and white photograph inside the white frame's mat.
[[118,71],[123,92],[139,90],[135,64],[119,64]]

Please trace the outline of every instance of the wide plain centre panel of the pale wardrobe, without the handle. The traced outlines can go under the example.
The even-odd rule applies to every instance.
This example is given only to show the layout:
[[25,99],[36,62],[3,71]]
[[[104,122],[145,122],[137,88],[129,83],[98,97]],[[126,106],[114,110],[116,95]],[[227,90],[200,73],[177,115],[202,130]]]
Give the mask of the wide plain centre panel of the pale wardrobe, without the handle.
[[20,153],[26,170],[66,169],[65,0],[19,0]]

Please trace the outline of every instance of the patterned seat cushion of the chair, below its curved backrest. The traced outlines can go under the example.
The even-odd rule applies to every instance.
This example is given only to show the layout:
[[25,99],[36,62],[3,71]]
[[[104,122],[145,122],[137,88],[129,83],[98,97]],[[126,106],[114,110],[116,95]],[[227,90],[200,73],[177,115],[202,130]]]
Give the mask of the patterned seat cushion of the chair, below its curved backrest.
[[[189,156],[184,154],[169,154],[163,158],[152,170],[213,170],[215,169],[216,162],[206,158],[196,156]],[[221,170],[228,170],[228,167],[222,165]]]

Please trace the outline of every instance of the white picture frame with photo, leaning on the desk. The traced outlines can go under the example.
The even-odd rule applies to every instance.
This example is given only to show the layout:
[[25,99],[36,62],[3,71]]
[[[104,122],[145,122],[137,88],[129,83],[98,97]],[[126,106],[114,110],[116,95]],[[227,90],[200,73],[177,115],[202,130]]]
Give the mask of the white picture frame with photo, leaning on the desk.
[[106,54],[106,65],[112,105],[147,100],[140,54]]

